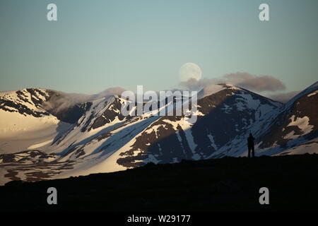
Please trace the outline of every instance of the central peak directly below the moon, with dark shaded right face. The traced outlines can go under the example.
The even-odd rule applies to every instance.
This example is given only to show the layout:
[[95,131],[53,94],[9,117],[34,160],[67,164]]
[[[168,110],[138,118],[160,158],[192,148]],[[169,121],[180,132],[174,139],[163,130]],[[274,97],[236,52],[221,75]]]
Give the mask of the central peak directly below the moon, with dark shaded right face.
[[131,141],[117,162],[136,167],[145,162],[206,159],[255,122],[268,120],[281,106],[233,85],[214,85],[212,90],[218,92],[198,100],[195,124],[184,117],[160,117]]

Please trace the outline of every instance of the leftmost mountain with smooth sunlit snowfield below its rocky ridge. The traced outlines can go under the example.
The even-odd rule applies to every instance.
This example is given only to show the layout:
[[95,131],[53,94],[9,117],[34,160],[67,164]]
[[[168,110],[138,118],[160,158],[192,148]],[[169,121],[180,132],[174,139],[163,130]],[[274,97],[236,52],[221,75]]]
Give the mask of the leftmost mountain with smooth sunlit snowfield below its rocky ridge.
[[1,92],[0,153],[45,145],[75,123],[85,109],[74,104],[57,111],[65,98],[63,93],[39,88]]

